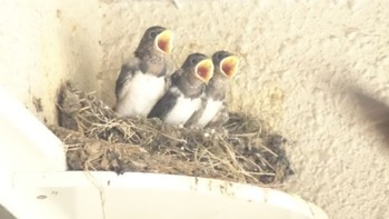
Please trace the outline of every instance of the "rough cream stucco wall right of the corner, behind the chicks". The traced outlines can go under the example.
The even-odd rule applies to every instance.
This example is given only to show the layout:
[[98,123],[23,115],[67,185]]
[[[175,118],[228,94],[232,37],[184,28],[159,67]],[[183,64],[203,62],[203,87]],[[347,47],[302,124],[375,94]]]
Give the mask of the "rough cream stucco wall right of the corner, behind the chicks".
[[[147,27],[176,32],[172,62],[236,52],[230,107],[292,141],[286,190],[331,218],[389,218],[388,1],[104,1],[102,97]],[[387,132],[386,131],[387,128]]]

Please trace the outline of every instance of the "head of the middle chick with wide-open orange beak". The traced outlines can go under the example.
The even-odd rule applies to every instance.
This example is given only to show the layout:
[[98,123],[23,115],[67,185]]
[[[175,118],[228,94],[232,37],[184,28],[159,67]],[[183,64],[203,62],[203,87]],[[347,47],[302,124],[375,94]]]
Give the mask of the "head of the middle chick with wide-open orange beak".
[[194,74],[196,78],[200,79],[205,83],[208,83],[208,81],[213,76],[212,60],[202,53],[189,54],[189,57],[182,64],[182,69],[188,68]]

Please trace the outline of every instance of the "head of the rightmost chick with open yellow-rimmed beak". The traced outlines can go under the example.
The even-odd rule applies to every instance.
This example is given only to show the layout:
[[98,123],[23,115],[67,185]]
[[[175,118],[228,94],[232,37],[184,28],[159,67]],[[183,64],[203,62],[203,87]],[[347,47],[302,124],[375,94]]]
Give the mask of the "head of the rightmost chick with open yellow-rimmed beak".
[[232,78],[238,71],[238,57],[228,51],[218,51],[212,56],[215,68],[227,78]]

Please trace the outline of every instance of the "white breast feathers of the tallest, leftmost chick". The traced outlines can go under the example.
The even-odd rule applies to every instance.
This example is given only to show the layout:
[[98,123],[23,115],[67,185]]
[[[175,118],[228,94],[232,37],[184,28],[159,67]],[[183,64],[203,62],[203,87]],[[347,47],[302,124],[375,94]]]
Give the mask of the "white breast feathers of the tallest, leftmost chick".
[[120,116],[147,117],[164,93],[164,78],[138,71],[131,81],[123,86],[122,93],[116,107]]

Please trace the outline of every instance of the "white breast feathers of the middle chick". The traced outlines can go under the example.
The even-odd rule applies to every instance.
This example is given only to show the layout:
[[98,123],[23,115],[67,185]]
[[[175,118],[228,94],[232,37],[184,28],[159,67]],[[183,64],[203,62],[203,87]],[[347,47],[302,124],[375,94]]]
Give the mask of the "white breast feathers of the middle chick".
[[200,108],[200,98],[184,98],[184,96],[181,93],[177,100],[177,103],[166,117],[164,122],[174,126],[183,125],[193,115],[193,112]]

